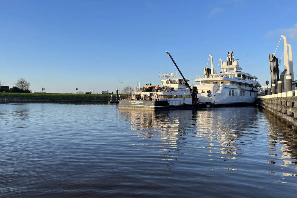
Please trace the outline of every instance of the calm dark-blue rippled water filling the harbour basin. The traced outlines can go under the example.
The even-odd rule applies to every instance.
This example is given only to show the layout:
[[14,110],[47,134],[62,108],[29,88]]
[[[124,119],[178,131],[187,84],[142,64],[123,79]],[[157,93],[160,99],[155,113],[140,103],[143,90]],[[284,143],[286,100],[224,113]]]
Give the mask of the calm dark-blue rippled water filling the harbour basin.
[[0,195],[294,197],[296,134],[257,107],[0,104]]

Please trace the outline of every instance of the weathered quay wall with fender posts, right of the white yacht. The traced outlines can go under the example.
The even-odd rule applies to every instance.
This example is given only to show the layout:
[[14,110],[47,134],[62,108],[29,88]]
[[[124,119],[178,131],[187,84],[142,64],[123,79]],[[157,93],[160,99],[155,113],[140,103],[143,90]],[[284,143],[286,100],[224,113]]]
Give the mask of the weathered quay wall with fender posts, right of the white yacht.
[[258,105],[297,127],[297,97],[259,97]]

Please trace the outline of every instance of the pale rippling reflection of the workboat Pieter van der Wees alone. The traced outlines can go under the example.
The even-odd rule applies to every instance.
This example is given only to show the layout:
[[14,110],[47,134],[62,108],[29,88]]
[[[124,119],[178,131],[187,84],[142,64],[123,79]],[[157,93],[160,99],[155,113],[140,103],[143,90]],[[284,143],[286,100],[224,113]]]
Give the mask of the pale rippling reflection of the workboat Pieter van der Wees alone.
[[[127,120],[138,138],[150,138],[161,142],[157,146],[162,160],[178,160],[182,145],[191,130],[189,120],[192,110],[150,111],[119,109],[120,117]],[[172,162],[170,162],[172,163]]]

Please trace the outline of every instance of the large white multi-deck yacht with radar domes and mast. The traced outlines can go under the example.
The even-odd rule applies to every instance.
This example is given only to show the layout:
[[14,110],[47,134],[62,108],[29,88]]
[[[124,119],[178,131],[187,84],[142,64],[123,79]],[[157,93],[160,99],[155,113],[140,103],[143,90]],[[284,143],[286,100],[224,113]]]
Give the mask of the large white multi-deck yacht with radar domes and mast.
[[197,97],[201,103],[214,106],[230,104],[251,104],[257,99],[261,85],[256,76],[240,71],[233,51],[227,54],[227,61],[221,61],[221,72],[214,74],[212,68],[204,68],[204,75],[196,76]]

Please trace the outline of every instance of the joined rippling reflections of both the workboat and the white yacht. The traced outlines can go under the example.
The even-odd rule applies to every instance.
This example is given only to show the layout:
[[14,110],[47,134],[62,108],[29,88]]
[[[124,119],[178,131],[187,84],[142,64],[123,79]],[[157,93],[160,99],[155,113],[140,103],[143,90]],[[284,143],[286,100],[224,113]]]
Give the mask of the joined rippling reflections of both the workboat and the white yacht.
[[[131,124],[131,129],[136,131],[134,134],[139,138],[162,141],[162,148],[175,152],[182,151],[185,143],[187,146],[190,144],[193,148],[207,149],[203,152],[208,153],[210,160],[213,160],[212,153],[215,152],[214,157],[224,161],[237,159],[236,155],[242,154],[245,149],[238,145],[252,144],[251,135],[255,133],[252,129],[257,125],[256,111],[256,108],[174,111],[119,109],[122,119]],[[244,131],[245,127],[250,130]],[[178,160],[177,157],[175,159]]]

